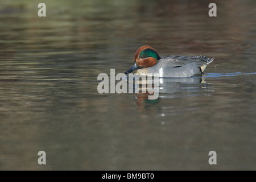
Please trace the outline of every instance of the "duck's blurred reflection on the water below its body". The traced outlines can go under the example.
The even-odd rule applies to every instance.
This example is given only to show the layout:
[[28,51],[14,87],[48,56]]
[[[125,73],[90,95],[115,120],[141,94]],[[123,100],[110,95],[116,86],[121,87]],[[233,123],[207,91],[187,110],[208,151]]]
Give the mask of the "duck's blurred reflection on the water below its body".
[[[212,85],[205,81],[205,77],[202,76],[188,78],[158,77],[158,81],[156,81],[155,78],[150,79],[152,79],[150,81],[150,83],[152,83],[151,85],[147,84],[147,78],[147,81],[139,80],[132,86],[133,93],[137,94],[135,96],[135,100],[137,101],[139,107],[157,104],[162,99],[202,95],[205,96],[210,95],[213,92]],[[131,88],[131,85],[129,86]],[[150,89],[148,89],[147,86],[150,86]]]

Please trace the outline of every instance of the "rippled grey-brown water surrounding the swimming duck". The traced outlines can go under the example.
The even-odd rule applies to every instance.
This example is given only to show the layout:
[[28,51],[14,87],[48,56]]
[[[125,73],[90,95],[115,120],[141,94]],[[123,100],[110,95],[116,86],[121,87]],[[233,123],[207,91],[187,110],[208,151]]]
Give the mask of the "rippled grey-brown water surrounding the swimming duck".
[[[1,2],[0,169],[256,169],[255,1],[216,2],[217,17],[210,1],[38,3]],[[146,44],[214,61],[160,78],[156,100],[98,93]]]

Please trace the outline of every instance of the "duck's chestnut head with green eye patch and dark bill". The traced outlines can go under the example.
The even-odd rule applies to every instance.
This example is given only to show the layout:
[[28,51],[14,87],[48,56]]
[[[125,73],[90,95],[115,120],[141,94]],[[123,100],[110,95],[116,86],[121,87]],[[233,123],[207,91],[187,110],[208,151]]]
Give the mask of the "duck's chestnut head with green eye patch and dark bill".
[[134,64],[125,74],[133,72],[135,69],[152,67],[160,59],[156,50],[150,46],[142,46],[134,54]]

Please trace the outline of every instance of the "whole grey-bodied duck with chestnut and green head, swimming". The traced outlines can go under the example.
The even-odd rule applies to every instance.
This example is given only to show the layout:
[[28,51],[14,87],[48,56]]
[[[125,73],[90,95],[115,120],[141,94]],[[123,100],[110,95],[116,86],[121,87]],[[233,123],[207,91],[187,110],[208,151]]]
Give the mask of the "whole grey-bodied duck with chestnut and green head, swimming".
[[206,56],[159,56],[151,46],[142,46],[134,54],[134,63],[125,75],[135,71],[140,76],[192,77],[202,75],[214,58]]

